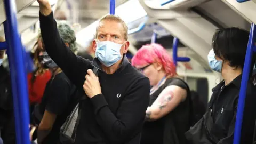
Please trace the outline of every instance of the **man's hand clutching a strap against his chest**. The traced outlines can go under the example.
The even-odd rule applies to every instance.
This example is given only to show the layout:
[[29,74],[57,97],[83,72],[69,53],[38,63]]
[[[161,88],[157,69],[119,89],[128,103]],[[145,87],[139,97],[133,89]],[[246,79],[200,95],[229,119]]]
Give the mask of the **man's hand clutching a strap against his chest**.
[[97,77],[91,69],[87,70],[83,88],[89,98],[92,98],[97,94],[101,94],[99,77]]

